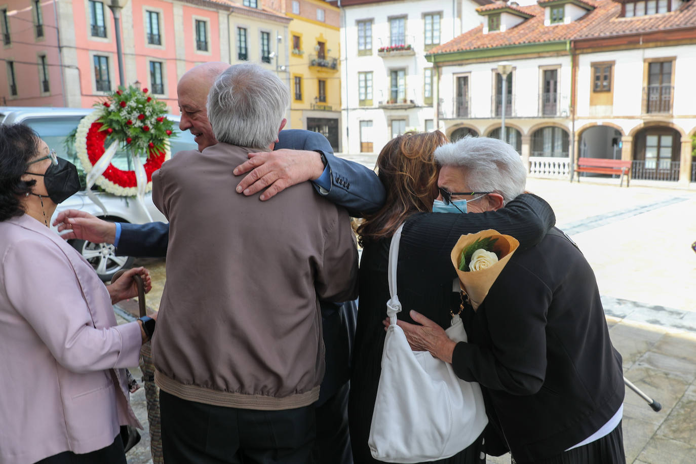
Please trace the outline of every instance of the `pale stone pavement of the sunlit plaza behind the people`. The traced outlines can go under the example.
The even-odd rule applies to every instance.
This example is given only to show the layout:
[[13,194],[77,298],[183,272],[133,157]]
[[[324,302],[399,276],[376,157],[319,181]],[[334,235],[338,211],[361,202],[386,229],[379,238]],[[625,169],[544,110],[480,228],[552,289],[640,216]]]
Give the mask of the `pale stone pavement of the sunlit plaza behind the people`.
[[[374,157],[353,157],[374,166]],[[648,186],[619,188],[618,179],[528,179],[528,189],[553,207],[592,265],[610,326],[624,357],[624,375],[662,403],[655,413],[626,389],[624,447],[633,464],[696,463],[696,191]],[[141,261],[159,307],[164,260]],[[122,319],[123,320],[123,319]],[[138,374],[139,375],[139,374]],[[139,417],[144,393],[133,395]],[[129,463],[148,462],[143,443]],[[488,458],[509,463],[509,456]]]

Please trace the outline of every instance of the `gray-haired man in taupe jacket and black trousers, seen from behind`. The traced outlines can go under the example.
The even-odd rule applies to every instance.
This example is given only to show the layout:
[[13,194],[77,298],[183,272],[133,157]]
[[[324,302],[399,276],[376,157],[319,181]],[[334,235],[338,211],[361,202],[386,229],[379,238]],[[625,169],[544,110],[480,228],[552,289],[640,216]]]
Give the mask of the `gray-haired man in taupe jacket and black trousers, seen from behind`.
[[168,464],[313,462],[319,298],[357,296],[348,214],[308,183],[260,202],[229,182],[276,141],[289,99],[272,72],[230,67],[208,95],[219,143],[177,153],[153,177],[170,223],[152,342]]

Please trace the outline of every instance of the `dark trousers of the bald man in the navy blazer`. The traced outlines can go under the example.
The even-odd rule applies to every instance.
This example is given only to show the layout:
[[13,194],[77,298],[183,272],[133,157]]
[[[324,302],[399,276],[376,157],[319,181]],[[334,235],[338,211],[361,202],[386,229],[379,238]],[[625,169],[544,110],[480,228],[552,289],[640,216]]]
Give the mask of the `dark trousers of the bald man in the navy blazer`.
[[353,464],[348,429],[348,392],[346,383],[333,397],[315,409],[317,414],[317,463]]

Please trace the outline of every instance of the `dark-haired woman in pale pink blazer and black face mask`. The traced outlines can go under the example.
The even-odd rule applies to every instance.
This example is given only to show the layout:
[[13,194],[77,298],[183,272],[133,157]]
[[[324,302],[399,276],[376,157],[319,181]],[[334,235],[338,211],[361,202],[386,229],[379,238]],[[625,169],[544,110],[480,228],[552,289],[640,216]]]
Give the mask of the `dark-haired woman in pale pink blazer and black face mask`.
[[77,170],[29,127],[0,126],[0,463],[123,463],[121,424],[140,426],[125,367],[148,339],[116,325],[131,269],[108,288],[49,229]]

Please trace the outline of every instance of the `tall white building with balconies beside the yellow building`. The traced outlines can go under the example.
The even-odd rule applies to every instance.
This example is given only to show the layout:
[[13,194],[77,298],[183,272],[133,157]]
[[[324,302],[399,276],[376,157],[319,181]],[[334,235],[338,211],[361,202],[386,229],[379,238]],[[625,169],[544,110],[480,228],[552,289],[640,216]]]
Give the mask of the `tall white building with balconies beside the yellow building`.
[[436,79],[425,54],[478,24],[477,6],[472,0],[340,3],[344,152],[379,153],[405,131],[434,129]]

